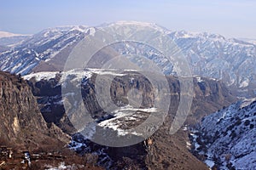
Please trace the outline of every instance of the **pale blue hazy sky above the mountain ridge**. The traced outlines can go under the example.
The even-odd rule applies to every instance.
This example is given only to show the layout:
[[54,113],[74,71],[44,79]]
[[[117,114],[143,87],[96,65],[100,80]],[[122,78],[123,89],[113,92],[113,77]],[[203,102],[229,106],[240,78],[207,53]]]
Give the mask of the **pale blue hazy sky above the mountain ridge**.
[[256,0],[0,0],[0,31],[33,34],[118,20],[256,39]]

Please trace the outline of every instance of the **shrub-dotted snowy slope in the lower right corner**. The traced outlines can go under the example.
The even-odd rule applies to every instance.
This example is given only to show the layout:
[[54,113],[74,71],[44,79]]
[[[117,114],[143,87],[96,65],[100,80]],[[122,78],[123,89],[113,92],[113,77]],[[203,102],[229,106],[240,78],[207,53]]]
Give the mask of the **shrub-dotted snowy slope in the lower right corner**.
[[195,152],[209,167],[254,169],[256,99],[244,99],[203,118],[194,136]]

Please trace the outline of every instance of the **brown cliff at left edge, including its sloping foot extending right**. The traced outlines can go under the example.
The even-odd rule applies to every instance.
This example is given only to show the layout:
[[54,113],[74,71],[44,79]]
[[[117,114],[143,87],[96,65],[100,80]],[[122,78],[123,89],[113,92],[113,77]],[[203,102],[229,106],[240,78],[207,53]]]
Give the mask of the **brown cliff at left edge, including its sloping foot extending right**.
[[6,72],[0,72],[0,114],[1,144],[37,148],[43,143],[68,141],[58,127],[44,122],[26,81]]

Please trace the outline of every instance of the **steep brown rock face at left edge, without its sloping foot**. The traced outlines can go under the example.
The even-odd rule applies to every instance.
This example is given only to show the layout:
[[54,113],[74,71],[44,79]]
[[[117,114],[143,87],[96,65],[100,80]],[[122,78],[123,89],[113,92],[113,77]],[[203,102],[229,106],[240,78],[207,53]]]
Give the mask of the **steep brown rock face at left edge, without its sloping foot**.
[[1,125],[9,131],[1,133],[1,137],[14,139],[22,128],[30,126],[38,130],[45,129],[44,120],[38,111],[37,100],[33,98],[31,89],[20,77],[1,73],[0,102],[3,118]]

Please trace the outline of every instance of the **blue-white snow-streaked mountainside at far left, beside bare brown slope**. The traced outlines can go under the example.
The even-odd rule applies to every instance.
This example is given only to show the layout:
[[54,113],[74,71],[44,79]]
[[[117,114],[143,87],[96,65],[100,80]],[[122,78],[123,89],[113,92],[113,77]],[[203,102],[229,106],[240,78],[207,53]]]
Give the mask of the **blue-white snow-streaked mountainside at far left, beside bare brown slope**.
[[[62,50],[79,42],[88,31],[85,26],[46,29],[0,54],[0,69],[26,75],[41,61],[47,61]],[[68,55],[68,54],[66,54]]]

